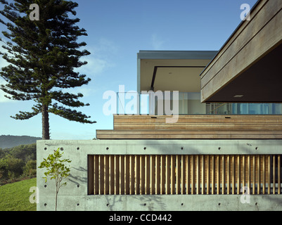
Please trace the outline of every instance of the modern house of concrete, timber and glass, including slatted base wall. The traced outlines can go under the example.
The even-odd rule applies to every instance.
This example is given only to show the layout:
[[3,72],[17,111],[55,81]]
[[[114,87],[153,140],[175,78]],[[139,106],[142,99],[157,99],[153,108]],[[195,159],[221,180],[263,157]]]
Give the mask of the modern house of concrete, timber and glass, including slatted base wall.
[[[118,93],[97,140],[37,141],[38,165],[72,160],[58,210],[282,210],[282,1],[250,15],[219,51],[139,51],[137,107]],[[53,210],[43,174],[37,210]]]

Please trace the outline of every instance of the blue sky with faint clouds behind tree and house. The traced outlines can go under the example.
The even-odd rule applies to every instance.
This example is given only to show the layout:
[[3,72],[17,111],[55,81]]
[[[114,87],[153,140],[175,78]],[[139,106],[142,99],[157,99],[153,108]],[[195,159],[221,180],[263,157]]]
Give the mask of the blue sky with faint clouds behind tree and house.
[[[79,69],[92,79],[72,90],[84,94],[90,106],[79,108],[96,124],[70,122],[50,115],[51,139],[93,139],[96,129],[113,129],[113,116],[103,115],[105,91],[136,91],[137,56],[140,50],[219,50],[241,23],[241,4],[255,0],[81,0],[77,1],[79,27],[86,29],[84,58]],[[0,5],[0,8],[3,6]],[[0,26],[0,30],[3,27]],[[1,37],[1,34],[0,34]],[[6,65],[0,58],[0,68]],[[3,79],[0,77],[0,84]],[[14,120],[18,111],[30,111],[33,101],[8,101],[0,91],[0,135],[41,136],[41,115]]]

